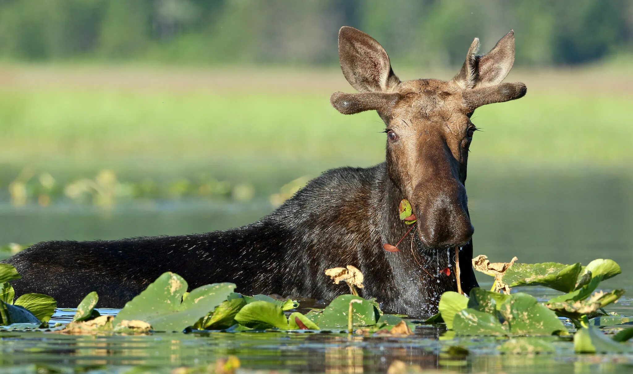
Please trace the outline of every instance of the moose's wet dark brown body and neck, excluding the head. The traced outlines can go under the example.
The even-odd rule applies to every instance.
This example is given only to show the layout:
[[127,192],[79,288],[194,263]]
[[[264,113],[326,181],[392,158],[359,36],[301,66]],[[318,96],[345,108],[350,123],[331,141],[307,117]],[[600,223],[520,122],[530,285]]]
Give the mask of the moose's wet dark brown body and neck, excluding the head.
[[[422,247],[415,232],[403,240],[400,252],[382,249],[408,229],[398,217],[402,198],[385,163],[339,168],[244,227],[173,237],[41,242],[3,262],[22,275],[11,282],[16,296],[47,294],[61,308],[77,306],[93,290],[100,307],[121,308],[165,271],[184,277],[190,289],[234,282],[244,294],[333,299],[349,290],[332,284],[324,270],[354,265],[365,275],[362,296],[376,297],[389,311],[426,316],[437,311],[442,292],[456,290],[454,271],[438,275],[448,265],[447,249]],[[471,258],[469,243],[460,256],[466,291],[477,285]]]

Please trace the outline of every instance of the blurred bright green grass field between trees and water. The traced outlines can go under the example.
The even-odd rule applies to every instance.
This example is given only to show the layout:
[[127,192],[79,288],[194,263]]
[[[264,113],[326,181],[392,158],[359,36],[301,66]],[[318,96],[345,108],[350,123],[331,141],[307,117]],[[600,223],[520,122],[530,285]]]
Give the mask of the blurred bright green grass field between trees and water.
[[[330,107],[331,92],[353,91],[339,72],[272,70],[249,78],[244,72],[105,69],[5,68],[4,76],[14,78],[0,87],[4,165],[116,169],[144,160],[159,168],[289,162],[318,169],[384,158],[384,125],[375,113],[344,116]],[[555,75],[523,73],[527,96],[475,112],[473,123],[484,132],[475,136],[471,161],[629,163],[633,94],[615,87],[617,78],[609,87],[592,74],[587,80],[599,80],[598,89],[569,74],[556,82],[548,78]]]

